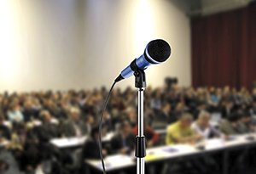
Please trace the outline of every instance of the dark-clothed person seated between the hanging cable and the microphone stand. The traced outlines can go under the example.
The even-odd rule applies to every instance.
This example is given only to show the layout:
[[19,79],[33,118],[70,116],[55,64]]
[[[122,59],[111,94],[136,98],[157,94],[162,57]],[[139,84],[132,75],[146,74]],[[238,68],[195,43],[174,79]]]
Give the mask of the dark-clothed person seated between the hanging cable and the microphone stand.
[[130,154],[135,148],[135,138],[131,125],[128,121],[123,121],[119,127],[119,133],[110,141],[113,154]]

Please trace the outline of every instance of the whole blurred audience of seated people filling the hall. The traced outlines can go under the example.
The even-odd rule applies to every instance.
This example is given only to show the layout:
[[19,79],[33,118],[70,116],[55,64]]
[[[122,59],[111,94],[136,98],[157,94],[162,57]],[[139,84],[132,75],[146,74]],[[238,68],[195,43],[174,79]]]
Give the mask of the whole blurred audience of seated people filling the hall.
[[[62,151],[49,141],[88,135],[84,159],[99,159],[98,122],[108,89],[0,93],[0,150],[14,157],[24,173],[73,173],[71,149]],[[212,125],[212,115],[221,120]],[[147,146],[196,143],[203,138],[255,132],[256,88],[147,87],[144,97]],[[131,154],[137,134],[137,91],[113,89],[103,120],[103,136],[116,132],[103,146],[103,155]],[[157,130],[166,130],[160,138]],[[8,143],[6,143],[8,142]],[[1,154],[0,154],[1,159]],[[10,167],[0,160],[0,171]],[[38,171],[41,170],[41,171]]]

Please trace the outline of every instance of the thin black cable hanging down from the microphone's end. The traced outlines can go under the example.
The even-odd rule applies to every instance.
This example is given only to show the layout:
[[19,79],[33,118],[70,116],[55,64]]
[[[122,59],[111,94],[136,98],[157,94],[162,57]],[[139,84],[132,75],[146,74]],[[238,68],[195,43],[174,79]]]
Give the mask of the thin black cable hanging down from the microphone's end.
[[112,87],[110,88],[110,90],[108,92],[108,96],[107,96],[107,98],[106,98],[106,100],[103,104],[102,114],[101,114],[101,118],[100,118],[100,122],[99,122],[99,149],[100,149],[100,156],[101,156],[101,160],[102,160],[103,174],[106,174],[106,169],[105,169],[105,163],[104,163],[103,154],[102,154],[102,121],[103,121],[104,112],[107,108],[108,100],[109,100],[110,95],[113,91],[113,87],[114,87],[115,83],[116,83],[116,81],[113,82]]

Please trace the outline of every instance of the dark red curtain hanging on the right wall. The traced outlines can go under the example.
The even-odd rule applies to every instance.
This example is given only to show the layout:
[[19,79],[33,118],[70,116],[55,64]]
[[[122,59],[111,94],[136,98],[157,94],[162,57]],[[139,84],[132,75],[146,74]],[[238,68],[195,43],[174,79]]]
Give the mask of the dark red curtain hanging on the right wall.
[[191,20],[194,87],[248,87],[256,81],[256,3]]

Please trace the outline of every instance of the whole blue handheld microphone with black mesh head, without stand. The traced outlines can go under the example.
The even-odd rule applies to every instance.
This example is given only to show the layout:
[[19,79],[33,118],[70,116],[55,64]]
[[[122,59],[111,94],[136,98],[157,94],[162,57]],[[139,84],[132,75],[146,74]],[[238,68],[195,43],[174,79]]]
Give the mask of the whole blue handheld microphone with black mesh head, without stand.
[[156,39],[148,42],[143,55],[139,58],[134,59],[131,65],[128,65],[124,70],[121,71],[119,76],[115,79],[115,82],[129,78],[134,74],[136,70],[145,70],[150,65],[160,64],[171,55],[170,45],[162,40]]

